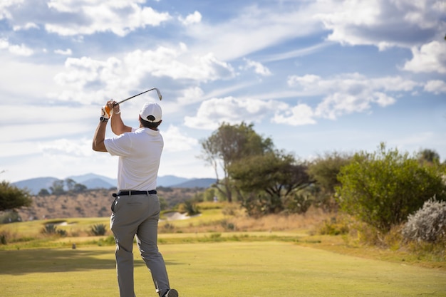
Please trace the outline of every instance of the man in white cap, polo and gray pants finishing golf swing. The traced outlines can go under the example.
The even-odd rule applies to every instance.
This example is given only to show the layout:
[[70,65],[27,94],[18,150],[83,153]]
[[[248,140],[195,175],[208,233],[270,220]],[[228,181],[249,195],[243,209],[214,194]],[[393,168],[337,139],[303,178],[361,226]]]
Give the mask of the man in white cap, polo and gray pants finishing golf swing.
[[[140,127],[124,125],[120,106],[109,100],[101,109],[100,122],[93,137],[93,150],[119,156],[118,193],[113,194],[110,229],[116,242],[116,270],[120,297],[135,297],[133,281],[133,239],[137,239],[142,259],[161,297],[177,297],[170,288],[164,259],[157,247],[160,199],[156,180],[164,141],[158,130],[161,108],[146,103],[139,116]],[[107,112],[110,110],[110,114]],[[117,137],[105,139],[105,128],[111,118],[111,128]]]

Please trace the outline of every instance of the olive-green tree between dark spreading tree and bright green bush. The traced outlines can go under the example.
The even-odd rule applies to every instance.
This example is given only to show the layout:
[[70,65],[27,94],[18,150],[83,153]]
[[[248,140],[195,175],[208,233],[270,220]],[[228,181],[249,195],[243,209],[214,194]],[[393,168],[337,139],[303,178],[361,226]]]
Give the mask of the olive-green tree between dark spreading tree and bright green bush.
[[353,154],[346,152],[326,152],[324,155],[318,155],[308,165],[308,174],[316,180],[316,203],[326,210],[336,209],[336,200],[334,194],[336,187],[341,185],[338,181],[338,174],[341,167],[351,162]]

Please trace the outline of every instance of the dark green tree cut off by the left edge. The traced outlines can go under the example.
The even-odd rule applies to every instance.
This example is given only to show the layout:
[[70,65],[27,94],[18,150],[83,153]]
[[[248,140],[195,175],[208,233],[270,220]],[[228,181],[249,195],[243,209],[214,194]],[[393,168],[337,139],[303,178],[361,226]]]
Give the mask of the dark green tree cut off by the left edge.
[[19,189],[6,181],[0,182],[0,212],[29,207],[32,202],[31,194],[27,190]]

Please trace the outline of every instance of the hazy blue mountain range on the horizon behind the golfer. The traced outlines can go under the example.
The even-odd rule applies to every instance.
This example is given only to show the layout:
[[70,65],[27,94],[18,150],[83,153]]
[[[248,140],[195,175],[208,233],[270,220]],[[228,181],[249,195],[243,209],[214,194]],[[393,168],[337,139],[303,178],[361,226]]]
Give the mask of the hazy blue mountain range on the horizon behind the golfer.
[[[68,177],[73,179],[78,184],[83,184],[88,189],[110,189],[116,187],[117,179],[110,177],[104,177],[98,174],[83,174],[78,176]],[[53,182],[60,180],[56,177],[37,177],[33,179],[26,179],[20,182],[14,182],[13,184],[20,189],[28,189],[31,194],[36,195],[41,189],[47,189],[50,191],[50,187],[53,186]],[[215,179],[211,178],[199,178],[199,179],[187,179],[185,177],[176,177],[175,175],[166,175],[158,177],[158,187],[177,187],[177,188],[207,188],[215,182]]]

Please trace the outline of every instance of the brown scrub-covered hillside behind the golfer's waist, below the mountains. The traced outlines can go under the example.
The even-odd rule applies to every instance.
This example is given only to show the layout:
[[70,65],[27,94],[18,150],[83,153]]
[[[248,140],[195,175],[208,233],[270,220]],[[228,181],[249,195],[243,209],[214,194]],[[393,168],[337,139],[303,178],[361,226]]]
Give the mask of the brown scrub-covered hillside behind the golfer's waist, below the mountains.
[[[158,188],[160,199],[165,199],[168,207],[192,199],[203,189]],[[71,217],[108,217],[113,202],[113,189],[88,190],[80,194],[33,196],[31,207],[19,210],[24,221],[31,219],[53,219]]]

